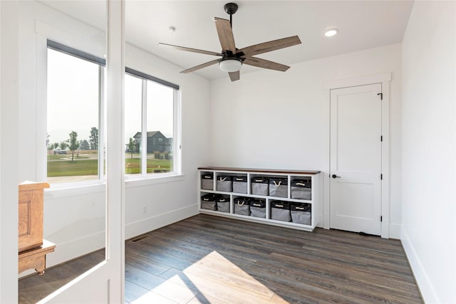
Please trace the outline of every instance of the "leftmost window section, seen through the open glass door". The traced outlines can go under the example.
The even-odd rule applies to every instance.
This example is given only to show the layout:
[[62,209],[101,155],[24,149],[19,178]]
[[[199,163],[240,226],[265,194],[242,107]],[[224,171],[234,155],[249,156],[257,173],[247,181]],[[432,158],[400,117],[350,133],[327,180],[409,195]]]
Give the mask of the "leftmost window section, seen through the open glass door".
[[104,61],[48,41],[48,182],[100,179]]

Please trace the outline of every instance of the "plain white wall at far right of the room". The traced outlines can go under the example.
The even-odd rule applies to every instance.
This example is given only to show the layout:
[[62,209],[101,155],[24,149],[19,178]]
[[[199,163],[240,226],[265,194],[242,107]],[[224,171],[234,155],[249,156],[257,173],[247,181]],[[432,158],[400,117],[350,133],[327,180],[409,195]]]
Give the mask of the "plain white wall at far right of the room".
[[403,40],[402,241],[426,303],[456,303],[456,5],[415,1]]

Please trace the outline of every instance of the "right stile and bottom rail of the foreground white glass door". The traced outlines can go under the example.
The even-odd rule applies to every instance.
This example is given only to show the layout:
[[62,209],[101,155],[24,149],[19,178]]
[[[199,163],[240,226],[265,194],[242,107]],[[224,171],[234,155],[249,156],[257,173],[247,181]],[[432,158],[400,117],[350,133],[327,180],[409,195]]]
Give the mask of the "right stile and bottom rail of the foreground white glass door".
[[123,303],[123,1],[108,0],[105,261],[39,303]]

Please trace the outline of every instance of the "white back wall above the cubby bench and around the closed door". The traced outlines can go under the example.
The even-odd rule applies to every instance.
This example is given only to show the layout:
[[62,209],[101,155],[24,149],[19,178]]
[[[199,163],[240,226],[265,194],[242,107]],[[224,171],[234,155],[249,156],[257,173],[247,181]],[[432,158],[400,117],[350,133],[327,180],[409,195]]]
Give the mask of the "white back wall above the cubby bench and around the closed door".
[[[299,46],[302,48],[309,46]],[[211,85],[212,164],[316,169],[328,174],[330,80],[392,72],[390,83],[390,237],[400,237],[400,44],[260,70]],[[326,171],[325,171],[326,170]],[[323,200],[320,204],[323,207]],[[320,213],[323,213],[321,209]],[[323,226],[320,216],[319,225]]]

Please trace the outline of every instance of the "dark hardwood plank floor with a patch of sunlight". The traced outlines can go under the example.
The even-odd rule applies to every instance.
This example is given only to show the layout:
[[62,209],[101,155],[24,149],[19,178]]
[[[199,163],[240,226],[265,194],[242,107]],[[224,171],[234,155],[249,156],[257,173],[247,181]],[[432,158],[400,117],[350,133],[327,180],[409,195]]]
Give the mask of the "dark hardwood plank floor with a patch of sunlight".
[[[20,302],[78,268],[22,279]],[[202,214],[125,242],[125,302],[423,303],[400,241]]]

